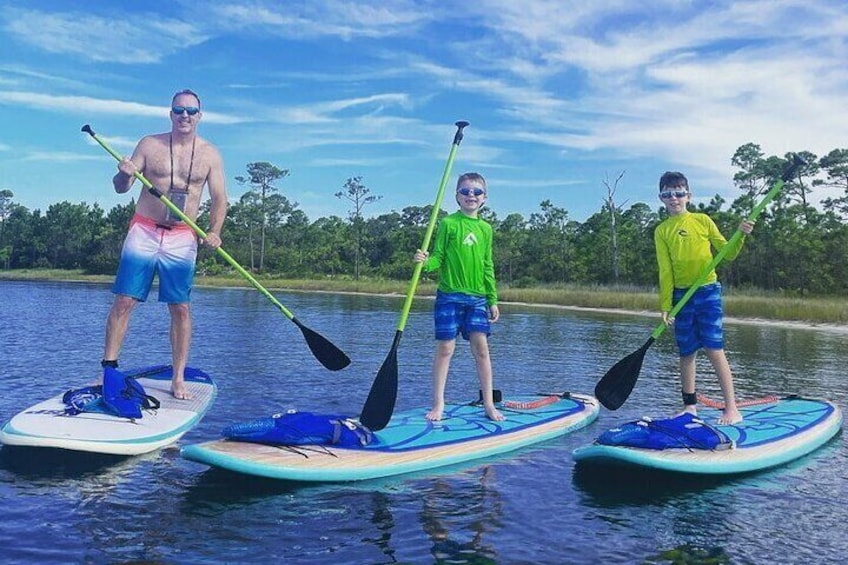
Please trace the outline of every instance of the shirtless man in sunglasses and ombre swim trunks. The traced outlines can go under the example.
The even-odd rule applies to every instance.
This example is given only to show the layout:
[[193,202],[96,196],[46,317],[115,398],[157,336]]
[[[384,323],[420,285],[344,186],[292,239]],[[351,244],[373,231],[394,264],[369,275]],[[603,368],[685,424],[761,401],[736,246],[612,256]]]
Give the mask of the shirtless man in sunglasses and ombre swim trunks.
[[[200,98],[191,90],[177,92],[171,100],[171,131],[141,139],[132,157],[118,163],[112,179],[115,191],[127,192],[142,173],[192,220],[197,218],[204,186],[209,189],[209,230],[203,243],[221,245],[221,227],[227,215],[224,169],[218,150],[197,135]],[[154,274],[159,276],[159,301],[171,314],[173,378],[171,394],[189,398],[184,381],[191,345],[189,297],[194,280],[197,236],[162,201],[142,187],[135,215],[124,240],[112,292],[115,301],[106,322],[102,366],[118,366],[118,355],[129,327],[130,315],[147,299]]]

